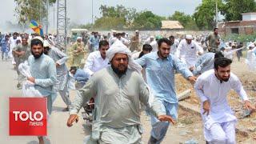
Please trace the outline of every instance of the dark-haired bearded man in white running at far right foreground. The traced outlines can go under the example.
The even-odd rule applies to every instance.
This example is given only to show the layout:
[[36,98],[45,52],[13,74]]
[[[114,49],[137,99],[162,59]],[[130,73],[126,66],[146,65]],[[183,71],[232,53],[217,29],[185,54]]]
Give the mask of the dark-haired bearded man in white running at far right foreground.
[[231,89],[238,93],[247,109],[255,109],[247,98],[242,82],[236,75],[230,73],[231,62],[228,58],[215,59],[214,70],[208,70],[201,74],[194,85],[202,102],[204,135],[209,143],[235,143],[237,118],[227,102],[227,94]]

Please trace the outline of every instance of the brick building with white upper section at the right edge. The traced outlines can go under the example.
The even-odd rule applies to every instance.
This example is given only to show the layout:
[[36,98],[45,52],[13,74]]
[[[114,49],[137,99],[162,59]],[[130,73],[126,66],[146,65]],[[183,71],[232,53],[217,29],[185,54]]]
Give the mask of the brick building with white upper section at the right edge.
[[242,21],[218,22],[220,34],[254,34],[256,33],[256,13],[243,13]]

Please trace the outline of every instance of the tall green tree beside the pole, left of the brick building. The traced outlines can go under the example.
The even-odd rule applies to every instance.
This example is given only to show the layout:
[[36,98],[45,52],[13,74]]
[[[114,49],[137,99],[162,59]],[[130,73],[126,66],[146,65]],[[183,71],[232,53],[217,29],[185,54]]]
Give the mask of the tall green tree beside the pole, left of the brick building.
[[[216,0],[202,0],[195,9],[194,18],[200,30],[211,30],[214,28],[215,22],[215,4]],[[218,8],[222,10],[222,0],[218,0]]]

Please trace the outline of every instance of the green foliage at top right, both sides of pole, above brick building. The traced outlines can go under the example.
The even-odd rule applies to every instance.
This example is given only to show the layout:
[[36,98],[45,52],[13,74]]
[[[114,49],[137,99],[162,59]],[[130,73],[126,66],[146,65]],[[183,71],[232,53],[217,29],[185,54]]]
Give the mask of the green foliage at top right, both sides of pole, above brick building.
[[[242,20],[242,13],[254,12],[254,0],[217,0],[218,10],[225,16],[226,21]],[[202,0],[194,13],[194,18],[200,30],[211,30],[215,26],[216,0]]]

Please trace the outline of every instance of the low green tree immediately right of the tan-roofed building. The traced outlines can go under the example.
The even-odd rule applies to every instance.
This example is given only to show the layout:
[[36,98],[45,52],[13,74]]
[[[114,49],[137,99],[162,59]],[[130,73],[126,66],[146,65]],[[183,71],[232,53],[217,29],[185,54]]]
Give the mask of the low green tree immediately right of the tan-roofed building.
[[194,22],[194,18],[189,14],[175,11],[168,19],[181,22],[182,26],[184,26],[186,30],[198,30],[198,27]]

